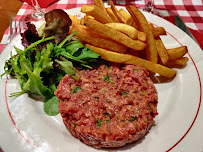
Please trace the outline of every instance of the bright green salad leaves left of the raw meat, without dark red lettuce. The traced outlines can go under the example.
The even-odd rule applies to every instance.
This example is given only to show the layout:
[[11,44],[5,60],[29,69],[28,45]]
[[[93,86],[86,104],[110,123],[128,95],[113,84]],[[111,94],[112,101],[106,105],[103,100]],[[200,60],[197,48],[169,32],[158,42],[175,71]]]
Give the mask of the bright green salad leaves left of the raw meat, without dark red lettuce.
[[[36,31],[34,33],[36,35]],[[29,34],[32,35],[32,32]],[[22,89],[11,96],[28,93],[44,97],[44,111],[51,116],[59,113],[59,100],[54,96],[59,81],[65,74],[78,81],[80,75],[77,70],[91,69],[100,56],[84,47],[80,41],[70,41],[76,32],[67,35],[61,42],[59,39],[55,41],[54,34],[50,35],[49,32],[48,37],[44,34],[41,39],[36,38],[35,42],[29,41],[30,45],[25,46],[24,50],[15,47],[17,54],[10,53],[10,59],[4,67],[4,74],[17,78]]]

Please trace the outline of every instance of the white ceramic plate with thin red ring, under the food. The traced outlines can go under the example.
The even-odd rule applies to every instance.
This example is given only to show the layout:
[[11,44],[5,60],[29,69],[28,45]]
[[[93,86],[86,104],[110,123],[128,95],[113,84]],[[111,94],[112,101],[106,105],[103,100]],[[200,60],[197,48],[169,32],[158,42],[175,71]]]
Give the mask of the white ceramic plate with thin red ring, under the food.
[[[80,8],[67,11],[81,17]],[[137,143],[116,149],[99,151],[137,152],[201,152],[203,151],[203,106],[202,76],[203,52],[184,32],[173,24],[144,13],[147,20],[163,26],[167,36],[163,36],[167,48],[186,45],[189,62],[186,67],[177,69],[172,81],[155,83],[158,90],[159,115],[155,126]],[[18,36],[0,55],[0,73],[9,58],[13,46],[22,48]],[[81,143],[72,137],[65,128],[60,115],[50,117],[43,111],[41,101],[24,94],[17,98],[8,95],[19,91],[16,80],[3,77],[0,81],[0,146],[5,152],[95,152],[98,149]]]

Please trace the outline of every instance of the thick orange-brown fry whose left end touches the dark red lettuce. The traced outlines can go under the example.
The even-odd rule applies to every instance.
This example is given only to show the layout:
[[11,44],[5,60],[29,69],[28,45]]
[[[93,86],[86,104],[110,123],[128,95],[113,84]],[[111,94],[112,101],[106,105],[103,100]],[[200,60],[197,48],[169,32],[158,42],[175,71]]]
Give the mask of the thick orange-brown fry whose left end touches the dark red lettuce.
[[111,39],[107,39],[102,36],[99,36],[98,34],[92,32],[84,25],[71,26],[69,33],[72,33],[74,31],[77,32],[76,36],[86,43],[90,43],[95,46],[105,48],[105,49],[110,49],[111,51],[120,52],[120,53],[125,53],[127,50],[127,47],[125,47],[124,45],[116,41],[113,41]]

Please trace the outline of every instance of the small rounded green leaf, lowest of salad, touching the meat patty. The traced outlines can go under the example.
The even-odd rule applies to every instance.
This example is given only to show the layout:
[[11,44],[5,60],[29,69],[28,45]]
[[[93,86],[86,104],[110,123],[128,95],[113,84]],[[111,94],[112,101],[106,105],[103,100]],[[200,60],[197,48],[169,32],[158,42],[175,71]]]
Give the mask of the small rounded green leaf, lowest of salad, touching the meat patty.
[[56,96],[46,98],[43,105],[45,113],[49,116],[57,115],[59,113],[58,104],[59,100]]

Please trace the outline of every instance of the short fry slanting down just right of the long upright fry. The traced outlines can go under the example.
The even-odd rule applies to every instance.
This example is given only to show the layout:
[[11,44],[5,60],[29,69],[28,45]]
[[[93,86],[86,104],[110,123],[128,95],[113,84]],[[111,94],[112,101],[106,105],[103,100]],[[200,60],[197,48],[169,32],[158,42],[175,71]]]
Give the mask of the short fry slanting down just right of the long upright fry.
[[169,55],[168,55],[168,52],[166,50],[166,47],[164,46],[161,38],[158,38],[155,41],[156,41],[157,52],[159,54],[161,62],[163,63],[163,65],[166,65],[166,63],[169,60]]

